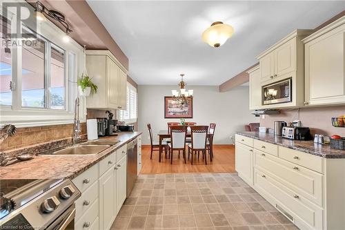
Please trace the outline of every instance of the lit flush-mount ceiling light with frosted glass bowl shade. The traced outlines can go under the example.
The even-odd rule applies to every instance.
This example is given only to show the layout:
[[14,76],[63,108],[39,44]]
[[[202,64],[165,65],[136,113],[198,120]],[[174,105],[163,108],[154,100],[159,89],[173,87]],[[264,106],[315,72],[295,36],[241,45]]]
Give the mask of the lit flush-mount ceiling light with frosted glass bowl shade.
[[223,45],[234,33],[233,26],[215,21],[202,33],[202,40],[208,45],[218,48]]

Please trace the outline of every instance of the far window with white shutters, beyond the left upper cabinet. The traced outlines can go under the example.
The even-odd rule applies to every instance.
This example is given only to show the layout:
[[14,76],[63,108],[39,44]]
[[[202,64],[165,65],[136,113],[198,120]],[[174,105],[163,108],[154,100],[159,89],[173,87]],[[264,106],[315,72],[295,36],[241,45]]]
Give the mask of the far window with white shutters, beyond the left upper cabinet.
[[119,120],[127,123],[137,122],[137,88],[127,83],[126,111],[119,112]]

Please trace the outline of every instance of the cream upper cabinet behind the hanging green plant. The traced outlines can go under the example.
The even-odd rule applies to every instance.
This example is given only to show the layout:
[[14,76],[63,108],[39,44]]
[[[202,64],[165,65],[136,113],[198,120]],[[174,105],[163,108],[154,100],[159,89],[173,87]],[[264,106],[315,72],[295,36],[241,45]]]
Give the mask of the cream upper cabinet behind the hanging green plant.
[[86,69],[97,93],[86,97],[87,108],[126,110],[128,71],[108,50],[86,50]]

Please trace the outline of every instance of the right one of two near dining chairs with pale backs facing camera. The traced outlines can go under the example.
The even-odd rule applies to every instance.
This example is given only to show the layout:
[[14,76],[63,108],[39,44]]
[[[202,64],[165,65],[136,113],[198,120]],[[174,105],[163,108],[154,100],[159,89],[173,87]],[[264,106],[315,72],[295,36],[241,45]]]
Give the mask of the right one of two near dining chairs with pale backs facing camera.
[[206,157],[206,141],[207,141],[207,132],[208,126],[191,126],[190,133],[192,136],[192,142],[188,144],[188,159],[189,155],[192,154],[191,163],[193,164],[194,153],[201,151],[204,159],[205,164],[207,164],[207,157]]

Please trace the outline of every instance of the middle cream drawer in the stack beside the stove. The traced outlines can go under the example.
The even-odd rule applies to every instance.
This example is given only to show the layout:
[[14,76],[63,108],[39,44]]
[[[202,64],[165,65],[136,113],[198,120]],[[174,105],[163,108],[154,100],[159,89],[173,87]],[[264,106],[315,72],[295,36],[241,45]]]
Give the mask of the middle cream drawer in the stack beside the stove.
[[98,198],[98,180],[95,181],[86,191],[81,193],[81,197],[75,202],[75,220],[79,220],[81,215],[91,207],[91,204]]

